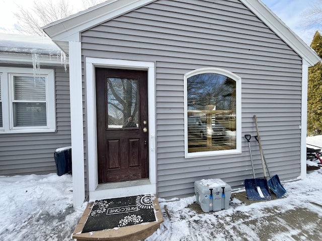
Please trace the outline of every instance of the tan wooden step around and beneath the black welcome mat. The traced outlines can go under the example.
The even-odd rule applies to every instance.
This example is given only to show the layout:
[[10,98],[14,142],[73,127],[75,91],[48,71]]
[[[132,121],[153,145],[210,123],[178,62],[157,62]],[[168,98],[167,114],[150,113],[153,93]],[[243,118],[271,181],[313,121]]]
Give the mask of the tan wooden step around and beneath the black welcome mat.
[[[82,232],[86,221],[89,218],[94,202],[89,202],[83,216],[79,220],[78,224],[75,227],[75,230],[72,234],[72,237],[77,241],[87,241],[87,240],[114,240],[114,241],[134,241],[134,240],[142,240],[153,234],[158,228],[160,228],[160,224],[163,223],[164,219],[162,216],[162,212],[157,201],[156,195],[152,196],[153,208],[155,211],[156,221],[153,222],[144,222],[141,224],[135,224],[124,227],[116,227],[112,229],[105,229],[99,231],[91,231],[91,232]],[[131,213],[129,213],[131,214]]]

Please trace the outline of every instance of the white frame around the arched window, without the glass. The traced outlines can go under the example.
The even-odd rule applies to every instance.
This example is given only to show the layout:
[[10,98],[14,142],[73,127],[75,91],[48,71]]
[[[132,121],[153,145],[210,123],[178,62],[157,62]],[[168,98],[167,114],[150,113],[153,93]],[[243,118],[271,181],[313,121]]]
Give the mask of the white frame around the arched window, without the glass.
[[[187,80],[188,78],[204,73],[214,73],[227,76],[236,81],[236,148],[231,150],[220,151],[207,151],[207,152],[188,152],[188,93],[187,93]],[[184,127],[185,127],[185,158],[194,157],[209,157],[228,154],[240,154],[241,153],[241,78],[236,74],[219,68],[201,68],[190,71],[184,75]]]

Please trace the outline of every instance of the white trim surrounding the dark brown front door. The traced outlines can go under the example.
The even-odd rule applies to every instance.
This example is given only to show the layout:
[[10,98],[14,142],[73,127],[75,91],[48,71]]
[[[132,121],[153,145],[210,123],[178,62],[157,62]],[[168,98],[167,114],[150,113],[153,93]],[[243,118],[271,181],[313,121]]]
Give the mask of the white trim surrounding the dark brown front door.
[[[97,166],[97,123],[96,123],[96,86],[95,67],[136,69],[148,71],[148,123],[149,123],[149,180],[148,183],[137,181],[124,184],[98,184]],[[154,62],[104,59],[86,57],[86,94],[87,94],[87,140],[88,140],[88,177],[90,201],[124,195],[156,193],[156,152],[155,152],[155,71]]]

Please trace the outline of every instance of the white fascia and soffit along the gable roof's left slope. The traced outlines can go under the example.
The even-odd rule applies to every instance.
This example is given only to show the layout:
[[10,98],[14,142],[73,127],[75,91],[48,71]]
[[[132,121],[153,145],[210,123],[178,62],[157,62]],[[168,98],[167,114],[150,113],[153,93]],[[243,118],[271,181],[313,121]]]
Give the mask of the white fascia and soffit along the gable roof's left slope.
[[75,34],[107,22],[132,10],[155,2],[156,0],[111,0],[88,10],[71,15],[65,19],[48,24],[42,29],[56,41],[75,41]]

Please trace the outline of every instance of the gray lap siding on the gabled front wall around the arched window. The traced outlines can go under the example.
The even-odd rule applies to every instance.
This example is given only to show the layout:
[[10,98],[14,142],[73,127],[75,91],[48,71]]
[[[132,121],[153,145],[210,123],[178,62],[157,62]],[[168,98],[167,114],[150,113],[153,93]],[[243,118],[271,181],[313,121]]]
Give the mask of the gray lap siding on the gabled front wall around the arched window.
[[[248,144],[242,153],[184,158],[183,75],[216,67],[242,78],[242,136],[257,135],[270,172],[300,174],[301,58],[237,0],[159,0],[82,34],[84,57],[153,61],[156,67],[159,197],[186,196],[193,183],[222,178],[232,188],[253,178]],[[257,177],[262,166],[252,141]]]

